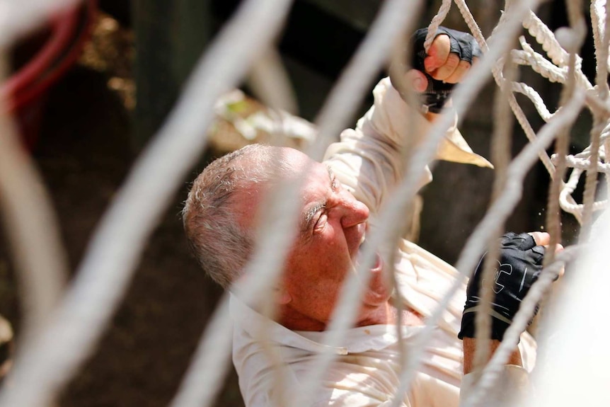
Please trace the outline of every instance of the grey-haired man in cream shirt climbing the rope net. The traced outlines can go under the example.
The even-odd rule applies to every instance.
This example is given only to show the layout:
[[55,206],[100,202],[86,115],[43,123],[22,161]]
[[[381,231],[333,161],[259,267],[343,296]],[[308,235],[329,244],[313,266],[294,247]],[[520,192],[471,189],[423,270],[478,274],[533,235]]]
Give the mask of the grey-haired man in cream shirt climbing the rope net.
[[[422,58],[422,69],[439,81],[461,81],[473,56],[472,48],[468,48],[472,41],[464,41],[463,35],[440,31],[428,55]],[[416,91],[430,93],[430,77],[418,71],[405,76]],[[316,355],[328,348],[321,343],[323,331],[328,328],[343,283],[355,273],[358,253],[372,227],[369,221],[403,177],[403,149],[413,149],[421,141],[435,119],[434,112],[444,102],[435,99],[437,93],[432,91],[429,96],[434,100],[427,98],[430,103],[424,102],[426,111],[420,114],[403,101],[389,79],[376,86],[374,96],[371,110],[354,130],[345,130],[341,141],[328,148],[323,163],[313,162],[293,149],[254,145],[214,161],[192,185],[183,212],[190,245],[202,268],[230,289],[234,282],[247,278],[243,268],[253,251],[258,221],[255,214],[265,193],[278,177],[296,181],[304,175],[299,227],[285,236],[292,239],[292,246],[274,287],[275,317],[270,320],[258,304],[245,304],[231,296],[234,365],[246,406],[278,405],[277,400],[282,399],[278,394],[298,391]],[[458,144],[465,143],[458,130],[451,127],[441,151],[451,151],[456,139],[461,140]],[[466,155],[461,161],[486,164],[467,147],[460,154]],[[428,172],[422,184],[430,178]],[[548,234],[533,236],[519,235],[515,239],[527,240],[529,246],[524,250],[528,251],[536,244],[548,243]],[[456,275],[450,265],[409,241],[402,241],[398,247],[395,265],[396,290],[405,299],[400,315],[401,338],[396,329],[399,315],[388,283],[388,267],[378,255],[369,270],[371,277],[354,327],[345,343],[332,349],[336,359],[325,372],[321,390],[313,396],[315,406],[390,405],[399,383],[401,343],[407,347],[413,343],[424,319]],[[452,299],[427,344],[425,360],[404,396],[404,406],[457,406],[462,357],[468,373],[474,345],[469,332],[463,354],[456,338],[464,308],[464,291],[460,294]],[[497,343],[499,339],[493,346]],[[275,382],[277,370],[269,348],[281,355],[282,389]],[[519,379],[526,372],[521,366],[531,369],[534,348],[534,341],[524,333],[519,350],[510,360],[515,366],[507,368],[506,374]]]

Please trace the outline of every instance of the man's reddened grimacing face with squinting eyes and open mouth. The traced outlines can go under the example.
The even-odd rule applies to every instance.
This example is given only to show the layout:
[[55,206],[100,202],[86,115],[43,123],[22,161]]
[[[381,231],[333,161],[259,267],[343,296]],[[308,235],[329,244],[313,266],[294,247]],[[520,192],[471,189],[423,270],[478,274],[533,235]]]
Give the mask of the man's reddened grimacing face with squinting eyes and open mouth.
[[[283,290],[289,301],[284,304],[292,317],[311,321],[311,326],[326,327],[350,273],[355,273],[359,248],[366,235],[369,210],[347,192],[323,164],[297,150],[287,150],[288,162],[299,176],[306,171],[301,187],[299,230],[287,258]],[[360,315],[385,304],[389,298],[377,256],[372,277],[364,294]]]

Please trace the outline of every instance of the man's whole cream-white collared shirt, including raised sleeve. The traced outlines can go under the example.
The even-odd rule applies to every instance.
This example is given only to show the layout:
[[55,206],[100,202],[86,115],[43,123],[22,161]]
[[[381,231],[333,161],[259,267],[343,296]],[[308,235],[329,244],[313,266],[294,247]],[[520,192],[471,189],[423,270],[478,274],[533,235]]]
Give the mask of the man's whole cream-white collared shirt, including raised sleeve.
[[[401,149],[421,142],[430,124],[418,113],[410,114],[413,110],[391,87],[389,79],[380,81],[373,93],[374,106],[354,130],[345,130],[341,141],[328,148],[326,164],[333,168],[345,188],[369,207],[374,217],[403,177]],[[437,158],[490,166],[473,154],[455,127],[447,131]],[[430,171],[426,171],[421,184],[431,178]],[[457,273],[451,265],[409,241],[402,241],[398,248],[396,272],[396,288],[405,298],[405,306],[424,317],[430,316]],[[458,406],[463,352],[457,333],[465,289],[464,285],[451,300],[427,343],[422,367],[403,398],[403,406]],[[278,392],[298,392],[316,355],[328,348],[321,342],[323,333],[290,331],[233,295],[231,318],[233,361],[248,407],[272,406]],[[401,327],[403,344],[408,347],[413,343],[421,329]],[[336,359],[325,372],[314,406],[389,406],[401,371],[398,346],[396,326],[350,329],[343,345],[332,349]],[[513,374],[524,375],[533,367],[535,347],[531,336],[524,333],[519,344],[524,369],[511,369]],[[277,365],[282,368],[276,369]]]

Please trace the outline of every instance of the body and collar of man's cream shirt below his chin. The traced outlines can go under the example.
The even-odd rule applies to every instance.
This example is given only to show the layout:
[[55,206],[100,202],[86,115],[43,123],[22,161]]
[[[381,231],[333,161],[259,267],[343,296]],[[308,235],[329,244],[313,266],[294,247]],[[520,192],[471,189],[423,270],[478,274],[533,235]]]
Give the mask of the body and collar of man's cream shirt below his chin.
[[[397,264],[399,290],[409,296],[409,304],[415,311],[429,316],[456,272],[413,243],[405,241],[402,249],[403,256]],[[463,352],[457,332],[465,291],[460,290],[454,298],[427,343],[422,367],[413,379],[403,406],[456,407],[459,404]],[[271,399],[278,386],[287,392],[298,392],[316,355],[328,348],[322,343],[324,333],[290,331],[243,304],[233,294],[230,312],[234,321],[233,361],[246,406],[273,406]],[[421,329],[421,326],[401,327],[406,347]],[[285,364],[280,371],[283,383],[278,382],[273,358],[265,345],[278,351],[277,359]],[[519,349],[524,369],[516,372],[513,369],[512,374],[523,375],[534,366],[536,345],[528,333],[522,334]],[[352,328],[343,345],[332,351],[336,359],[326,371],[314,406],[390,405],[401,370],[396,326]]]

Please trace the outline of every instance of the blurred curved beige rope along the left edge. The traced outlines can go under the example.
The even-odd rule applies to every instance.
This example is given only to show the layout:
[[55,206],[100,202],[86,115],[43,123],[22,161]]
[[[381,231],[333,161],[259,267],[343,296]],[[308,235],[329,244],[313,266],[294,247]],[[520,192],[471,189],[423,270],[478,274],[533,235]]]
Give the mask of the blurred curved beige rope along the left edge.
[[16,124],[2,108],[0,209],[17,270],[23,307],[21,336],[32,336],[45,326],[59,303],[68,265],[42,176],[23,148]]

